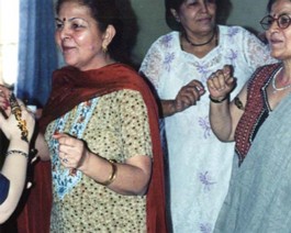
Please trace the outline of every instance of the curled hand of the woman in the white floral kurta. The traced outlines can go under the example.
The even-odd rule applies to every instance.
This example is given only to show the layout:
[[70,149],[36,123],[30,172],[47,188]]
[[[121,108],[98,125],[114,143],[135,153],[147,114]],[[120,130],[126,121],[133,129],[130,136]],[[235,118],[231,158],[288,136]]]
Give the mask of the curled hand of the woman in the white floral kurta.
[[205,93],[203,85],[198,80],[192,80],[183,86],[175,99],[176,112],[181,112],[187,108],[197,104],[200,97]]

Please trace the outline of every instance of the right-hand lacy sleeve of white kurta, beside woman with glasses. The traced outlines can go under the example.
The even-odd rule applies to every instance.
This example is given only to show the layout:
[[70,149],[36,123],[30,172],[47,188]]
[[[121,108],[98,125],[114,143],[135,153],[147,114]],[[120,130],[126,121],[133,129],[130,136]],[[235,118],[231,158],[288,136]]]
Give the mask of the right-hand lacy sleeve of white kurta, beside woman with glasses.
[[271,57],[269,45],[262,43],[255,34],[247,30],[243,31],[243,42],[246,62],[253,68],[253,71],[260,66],[278,63],[277,59]]

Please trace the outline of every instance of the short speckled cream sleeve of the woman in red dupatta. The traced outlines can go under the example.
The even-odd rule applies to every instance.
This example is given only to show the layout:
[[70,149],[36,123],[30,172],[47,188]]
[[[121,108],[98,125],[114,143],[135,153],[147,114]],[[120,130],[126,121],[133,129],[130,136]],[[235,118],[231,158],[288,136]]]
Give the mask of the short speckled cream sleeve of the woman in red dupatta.
[[148,114],[138,91],[121,91],[121,136],[124,159],[136,155],[153,157]]

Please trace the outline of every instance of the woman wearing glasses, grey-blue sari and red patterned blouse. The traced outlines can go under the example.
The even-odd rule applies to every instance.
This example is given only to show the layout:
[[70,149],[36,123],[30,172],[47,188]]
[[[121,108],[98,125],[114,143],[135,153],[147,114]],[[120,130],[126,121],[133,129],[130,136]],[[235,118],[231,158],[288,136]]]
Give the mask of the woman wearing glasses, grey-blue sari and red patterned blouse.
[[234,101],[228,67],[208,81],[211,124],[235,141],[230,190],[214,232],[290,232],[291,229],[291,1],[269,0],[260,23],[278,64],[258,68]]

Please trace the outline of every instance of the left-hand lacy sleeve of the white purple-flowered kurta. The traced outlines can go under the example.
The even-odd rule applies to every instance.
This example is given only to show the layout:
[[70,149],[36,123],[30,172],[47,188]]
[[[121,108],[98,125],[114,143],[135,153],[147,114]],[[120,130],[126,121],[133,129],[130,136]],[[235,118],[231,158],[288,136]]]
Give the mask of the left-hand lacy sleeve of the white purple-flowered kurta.
[[163,53],[163,43],[161,40],[157,40],[148,49],[146,53],[146,56],[144,57],[139,74],[143,77],[146,77],[156,88],[156,90],[160,87],[160,78],[161,78],[161,71],[164,66],[164,53]]

